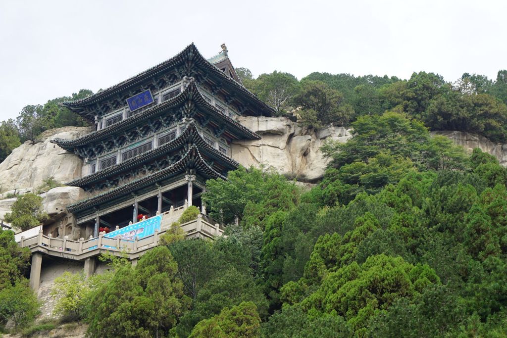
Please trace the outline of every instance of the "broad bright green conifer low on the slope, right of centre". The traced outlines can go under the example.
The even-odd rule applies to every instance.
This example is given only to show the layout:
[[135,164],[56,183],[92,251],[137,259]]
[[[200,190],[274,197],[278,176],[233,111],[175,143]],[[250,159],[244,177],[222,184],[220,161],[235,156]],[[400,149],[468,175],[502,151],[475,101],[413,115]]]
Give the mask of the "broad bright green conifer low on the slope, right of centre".
[[[440,284],[440,279],[427,265],[414,266],[401,257],[381,254],[370,256],[362,265],[352,262],[331,271],[300,303],[317,313],[343,316],[358,333],[365,332],[370,318],[396,299],[412,299],[433,284]],[[295,283],[282,288],[285,299],[295,299],[294,288]]]

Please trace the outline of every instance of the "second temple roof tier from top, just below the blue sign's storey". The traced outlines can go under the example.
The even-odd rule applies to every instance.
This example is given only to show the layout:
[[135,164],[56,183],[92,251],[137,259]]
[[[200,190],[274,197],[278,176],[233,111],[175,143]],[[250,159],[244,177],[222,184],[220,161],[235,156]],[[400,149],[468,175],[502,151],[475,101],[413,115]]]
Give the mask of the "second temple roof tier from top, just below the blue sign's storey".
[[211,112],[213,117],[228,125],[229,129],[242,137],[236,136],[236,138],[247,138],[247,139],[260,139],[261,137],[250,129],[244,127],[237,121],[231,119],[225,115],[222,111],[216,109],[216,107],[209,104],[201,92],[197,88],[195,81],[190,81],[187,88],[173,97],[172,99],[162,102],[161,104],[154,105],[153,107],[146,109],[139,114],[133,115],[125,120],[112,124],[104,129],[97,130],[87,134],[83,137],[67,140],[62,138],[55,138],[51,142],[58,144],[63,149],[70,151],[75,147],[84,146],[92,142],[98,142],[110,137],[112,133],[122,132],[129,130],[136,125],[140,125],[150,121],[153,117],[163,114],[164,111],[176,108],[183,105],[188,105],[189,101],[194,102],[197,106],[202,107],[204,110]]

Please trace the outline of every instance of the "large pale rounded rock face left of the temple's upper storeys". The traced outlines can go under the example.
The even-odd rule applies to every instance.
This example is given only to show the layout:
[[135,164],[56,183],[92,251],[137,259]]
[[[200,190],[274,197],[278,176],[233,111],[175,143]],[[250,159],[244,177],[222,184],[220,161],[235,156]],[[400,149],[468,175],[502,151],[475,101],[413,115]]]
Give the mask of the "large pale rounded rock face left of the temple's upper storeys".
[[26,141],[14,149],[0,164],[0,192],[37,189],[49,177],[58,182],[80,177],[83,161],[79,156],[65,152],[50,140],[56,137],[73,139],[89,132],[90,128],[83,127],[52,129],[41,135],[41,141]]

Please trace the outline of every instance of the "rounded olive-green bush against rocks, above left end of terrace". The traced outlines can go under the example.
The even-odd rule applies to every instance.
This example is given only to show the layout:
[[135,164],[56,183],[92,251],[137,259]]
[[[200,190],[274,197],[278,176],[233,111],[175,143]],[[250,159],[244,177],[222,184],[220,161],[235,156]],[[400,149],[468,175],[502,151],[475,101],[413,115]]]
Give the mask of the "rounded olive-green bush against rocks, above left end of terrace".
[[13,227],[25,231],[38,226],[47,219],[47,214],[42,206],[42,197],[28,193],[19,196],[12,205],[11,212],[4,217]]

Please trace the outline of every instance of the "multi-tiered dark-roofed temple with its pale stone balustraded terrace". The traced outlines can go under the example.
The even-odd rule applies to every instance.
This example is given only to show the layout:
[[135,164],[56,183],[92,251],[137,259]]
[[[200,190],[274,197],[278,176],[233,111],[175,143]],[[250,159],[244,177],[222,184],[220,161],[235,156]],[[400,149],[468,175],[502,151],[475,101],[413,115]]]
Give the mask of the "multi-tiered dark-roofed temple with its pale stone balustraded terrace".
[[[40,233],[37,241],[30,239],[33,243],[24,239],[22,245],[33,253],[86,259],[88,269],[89,258],[102,249],[127,251],[135,259],[140,248],[150,245],[125,232],[115,237],[115,230],[134,229],[132,225],[142,218],[147,218],[147,224],[156,220],[158,228],[149,238],[151,245],[156,244],[158,232],[190,205],[200,208],[201,215],[198,224],[188,229],[183,224],[187,234],[220,235],[218,224],[207,218],[201,202],[205,182],[226,179],[227,172],[237,168],[231,158],[233,140],[260,138],[239,124],[237,117],[273,114],[271,107],[242,86],[225,45],[222,49],[205,59],[192,44],[113,87],[64,102],[96,127],[78,139],[53,141],[85,163],[83,176],[66,183],[90,195],[67,206],[81,239],[65,238],[68,232],[63,229],[62,234],[56,227]],[[99,232],[102,229],[112,232]],[[37,259],[34,255],[35,265]],[[34,264],[32,273],[33,269]]]

